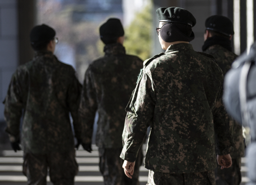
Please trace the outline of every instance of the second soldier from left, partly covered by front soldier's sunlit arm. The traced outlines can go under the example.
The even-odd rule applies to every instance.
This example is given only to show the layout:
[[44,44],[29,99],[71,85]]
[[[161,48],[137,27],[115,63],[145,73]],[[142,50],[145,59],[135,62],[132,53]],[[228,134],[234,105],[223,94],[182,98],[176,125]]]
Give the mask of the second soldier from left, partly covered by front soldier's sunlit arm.
[[142,164],[142,149],[138,154],[138,165],[133,179],[124,174],[120,153],[122,131],[125,121],[125,107],[143,61],[136,56],[125,54],[122,46],[124,29],[119,19],[110,18],[100,26],[100,38],[104,42],[105,56],[90,64],[84,77],[79,112],[84,125],[86,145],[90,151],[93,124],[98,111],[96,145],[99,147],[100,172],[105,185],[139,185],[139,167]]

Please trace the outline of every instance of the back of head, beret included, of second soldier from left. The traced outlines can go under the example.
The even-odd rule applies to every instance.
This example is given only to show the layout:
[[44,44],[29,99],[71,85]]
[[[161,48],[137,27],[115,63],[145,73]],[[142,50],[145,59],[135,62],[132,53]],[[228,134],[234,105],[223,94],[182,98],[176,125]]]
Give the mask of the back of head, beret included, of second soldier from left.
[[124,28],[117,18],[110,18],[100,26],[100,39],[104,44],[114,44],[121,36],[124,36]]

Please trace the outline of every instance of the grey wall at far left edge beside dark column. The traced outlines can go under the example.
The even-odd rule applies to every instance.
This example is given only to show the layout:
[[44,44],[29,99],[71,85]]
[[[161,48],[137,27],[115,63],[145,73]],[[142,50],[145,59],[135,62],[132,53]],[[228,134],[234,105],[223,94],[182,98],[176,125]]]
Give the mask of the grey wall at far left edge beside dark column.
[[0,0],[0,122],[4,121],[4,97],[18,66],[18,3]]

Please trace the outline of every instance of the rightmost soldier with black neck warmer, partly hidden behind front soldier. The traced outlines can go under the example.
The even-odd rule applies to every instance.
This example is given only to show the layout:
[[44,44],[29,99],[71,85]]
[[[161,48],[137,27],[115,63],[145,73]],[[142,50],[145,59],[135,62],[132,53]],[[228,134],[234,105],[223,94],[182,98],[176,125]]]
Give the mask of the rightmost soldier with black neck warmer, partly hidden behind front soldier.
[[[223,75],[231,68],[232,62],[237,55],[232,52],[231,38],[234,35],[233,24],[225,16],[214,15],[206,19],[206,30],[204,33],[203,52],[214,56],[220,66]],[[232,166],[221,170],[217,165],[215,178],[217,185],[239,185],[241,176],[241,157],[244,156],[244,141],[242,126],[234,121],[233,138],[235,142],[234,151],[230,153]]]

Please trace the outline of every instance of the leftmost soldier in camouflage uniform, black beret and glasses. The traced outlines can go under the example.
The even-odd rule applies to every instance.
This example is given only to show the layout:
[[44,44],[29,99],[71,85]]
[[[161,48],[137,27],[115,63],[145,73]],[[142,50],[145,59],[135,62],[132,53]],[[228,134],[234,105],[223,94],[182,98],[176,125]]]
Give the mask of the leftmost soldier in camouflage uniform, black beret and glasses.
[[[75,137],[81,140],[78,106],[81,84],[72,66],[54,56],[58,38],[42,24],[30,32],[34,58],[19,66],[12,76],[5,98],[6,131],[14,151],[24,151],[23,173],[29,185],[46,185],[48,167],[54,185],[72,185],[78,173]],[[22,131],[20,133],[20,119]]]

